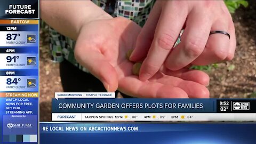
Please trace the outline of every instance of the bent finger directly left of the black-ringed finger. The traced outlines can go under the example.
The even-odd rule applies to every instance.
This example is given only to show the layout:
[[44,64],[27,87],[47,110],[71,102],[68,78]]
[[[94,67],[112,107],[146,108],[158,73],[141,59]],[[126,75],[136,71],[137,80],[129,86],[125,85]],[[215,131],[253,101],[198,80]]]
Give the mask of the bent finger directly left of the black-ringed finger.
[[169,54],[165,66],[171,70],[181,69],[194,61],[204,50],[211,30],[212,20],[201,11],[192,11],[187,19],[181,43]]

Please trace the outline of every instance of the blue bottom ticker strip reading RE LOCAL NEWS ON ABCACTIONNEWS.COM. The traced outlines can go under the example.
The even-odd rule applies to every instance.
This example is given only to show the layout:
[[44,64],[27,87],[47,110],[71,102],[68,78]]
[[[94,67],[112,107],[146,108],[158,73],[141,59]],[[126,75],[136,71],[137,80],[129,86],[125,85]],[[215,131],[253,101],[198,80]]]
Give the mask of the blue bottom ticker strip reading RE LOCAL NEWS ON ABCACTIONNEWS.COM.
[[40,123],[40,143],[255,143],[256,124]]

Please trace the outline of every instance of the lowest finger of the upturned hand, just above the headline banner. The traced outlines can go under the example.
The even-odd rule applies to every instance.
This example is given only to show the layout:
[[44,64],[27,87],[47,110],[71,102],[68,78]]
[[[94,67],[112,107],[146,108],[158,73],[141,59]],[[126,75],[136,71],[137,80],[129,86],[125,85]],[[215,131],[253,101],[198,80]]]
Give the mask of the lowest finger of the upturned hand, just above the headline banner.
[[122,78],[118,90],[140,98],[188,98],[187,93],[179,87],[157,82],[142,82],[138,76]]

